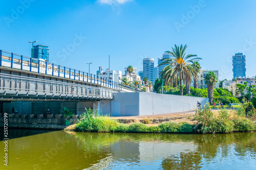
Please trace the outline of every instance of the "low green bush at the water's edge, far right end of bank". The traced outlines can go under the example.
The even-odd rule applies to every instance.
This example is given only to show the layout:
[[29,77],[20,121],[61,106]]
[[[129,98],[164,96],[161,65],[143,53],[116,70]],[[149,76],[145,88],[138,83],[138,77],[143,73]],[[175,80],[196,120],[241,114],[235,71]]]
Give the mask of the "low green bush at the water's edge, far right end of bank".
[[255,124],[247,118],[234,119],[234,130],[235,131],[254,131],[256,130]]

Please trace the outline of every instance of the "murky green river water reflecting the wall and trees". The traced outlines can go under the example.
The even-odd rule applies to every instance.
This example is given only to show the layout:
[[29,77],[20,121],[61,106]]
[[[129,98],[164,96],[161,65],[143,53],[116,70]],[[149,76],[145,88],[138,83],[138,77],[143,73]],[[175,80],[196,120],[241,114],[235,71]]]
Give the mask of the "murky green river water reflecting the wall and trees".
[[256,133],[136,134],[9,130],[0,169],[256,169]]

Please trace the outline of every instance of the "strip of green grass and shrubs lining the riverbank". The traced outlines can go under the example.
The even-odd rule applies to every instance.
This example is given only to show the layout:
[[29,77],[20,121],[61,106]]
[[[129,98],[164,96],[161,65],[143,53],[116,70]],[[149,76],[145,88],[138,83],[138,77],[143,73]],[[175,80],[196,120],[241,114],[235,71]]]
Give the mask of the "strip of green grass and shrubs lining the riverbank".
[[[252,109],[253,111],[253,109]],[[254,117],[253,117],[254,116]],[[215,114],[212,109],[205,106],[198,110],[194,119],[197,123],[190,125],[187,122],[166,122],[159,126],[148,127],[145,124],[150,122],[147,118],[143,123],[131,125],[118,123],[110,116],[100,115],[98,111],[86,110],[83,119],[78,120],[76,131],[80,132],[130,132],[130,133],[230,133],[255,131],[255,114],[245,111],[241,107],[237,111],[219,110]],[[190,117],[191,118],[191,117]]]

